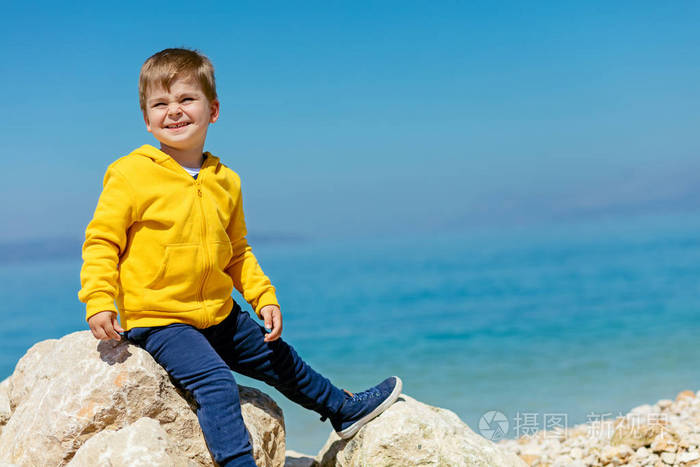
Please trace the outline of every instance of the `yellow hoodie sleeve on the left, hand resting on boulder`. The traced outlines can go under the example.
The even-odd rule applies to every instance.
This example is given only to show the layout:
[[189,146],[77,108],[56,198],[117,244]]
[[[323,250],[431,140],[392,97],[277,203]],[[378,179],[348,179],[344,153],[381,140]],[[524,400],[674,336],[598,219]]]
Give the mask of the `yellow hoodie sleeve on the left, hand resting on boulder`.
[[78,298],[86,304],[86,320],[101,311],[117,312],[114,299],[119,258],[126,248],[127,230],[134,221],[134,196],[126,177],[110,166],[102,186],[83,244]]

